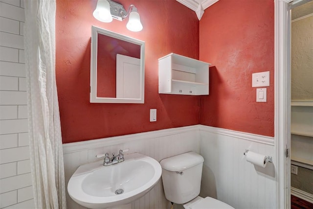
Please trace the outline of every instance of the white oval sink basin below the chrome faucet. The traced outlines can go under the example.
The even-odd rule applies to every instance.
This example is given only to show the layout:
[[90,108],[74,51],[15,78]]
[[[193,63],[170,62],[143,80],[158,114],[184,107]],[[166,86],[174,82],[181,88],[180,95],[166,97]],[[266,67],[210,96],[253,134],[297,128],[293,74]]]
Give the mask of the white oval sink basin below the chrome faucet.
[[121,163],[102,163],[81,165],[69,179],[67,192],[79,205],[104,209],[131,203],[152,189],[162,172],[156,160],[138,153],[125,155]]

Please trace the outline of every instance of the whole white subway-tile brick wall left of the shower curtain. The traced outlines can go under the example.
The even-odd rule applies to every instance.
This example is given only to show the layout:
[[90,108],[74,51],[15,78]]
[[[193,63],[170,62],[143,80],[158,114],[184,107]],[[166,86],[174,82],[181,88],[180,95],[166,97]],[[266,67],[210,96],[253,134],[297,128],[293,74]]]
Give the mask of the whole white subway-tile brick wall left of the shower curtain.
[[0,208],[34,208],[29,165],[23,0],[0,0]]

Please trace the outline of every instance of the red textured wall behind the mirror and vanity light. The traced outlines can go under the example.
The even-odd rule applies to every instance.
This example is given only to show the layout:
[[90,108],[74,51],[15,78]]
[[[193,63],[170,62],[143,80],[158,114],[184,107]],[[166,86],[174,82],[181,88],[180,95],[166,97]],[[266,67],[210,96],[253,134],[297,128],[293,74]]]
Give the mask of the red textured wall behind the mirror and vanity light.
[[[170,52],[199,58],[199,21],[176,0],[119,0],[134,3],[143,24],[140,32],[127,21],[101,23],[93,18],[96,0],[57,0],[56,79],[63,142],[99,139],[199,124],[199,97],[158,94],[158,58]],[[89,103],[91,25],[146,43],[145,103]],[[157,121],[149,122],[149,110]]]

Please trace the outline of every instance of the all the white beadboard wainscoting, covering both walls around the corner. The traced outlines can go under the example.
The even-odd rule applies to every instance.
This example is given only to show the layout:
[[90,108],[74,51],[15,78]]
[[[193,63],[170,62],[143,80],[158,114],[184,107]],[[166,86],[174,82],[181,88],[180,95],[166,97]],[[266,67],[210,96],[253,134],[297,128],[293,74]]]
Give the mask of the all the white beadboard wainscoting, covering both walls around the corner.
[[[158,162],[188,151],[200,153],[204,157],[201,196],[217,198],[236,209],[277,208],[273,138],[203,125],[64,144],[66,183],[79,165],[96,161],[96,154],[117,153],[127,148],[129,153],[142,153]],[[246,162],[245,149],[270,155],[273,163],[264,169],[254,166]],[[68,195],[67,206],[85,209]],[[131,206],[132,209],[169,209],[162,182]]]

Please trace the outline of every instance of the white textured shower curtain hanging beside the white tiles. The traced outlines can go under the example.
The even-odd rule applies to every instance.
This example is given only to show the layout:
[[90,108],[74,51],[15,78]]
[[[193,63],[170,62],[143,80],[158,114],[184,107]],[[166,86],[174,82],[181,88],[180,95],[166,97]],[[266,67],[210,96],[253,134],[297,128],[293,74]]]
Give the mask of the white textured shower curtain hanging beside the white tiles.
[[66,209],[55,80],[55,0],[24,0],[30,164],[37,209]]

